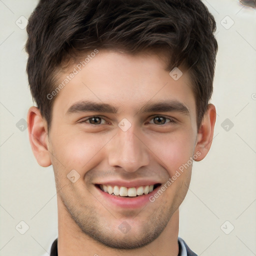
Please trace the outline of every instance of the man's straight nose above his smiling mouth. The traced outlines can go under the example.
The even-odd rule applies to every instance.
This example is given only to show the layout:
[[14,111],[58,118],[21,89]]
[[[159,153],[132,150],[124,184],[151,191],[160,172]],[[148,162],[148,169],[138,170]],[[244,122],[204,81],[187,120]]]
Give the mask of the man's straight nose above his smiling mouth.
[[126,131],[118,129],[108,146],[110,166],[121,167],[127,172],[135,172],[149,163],[147,147],[142,142],[142,137],[134,133],[132,126]]

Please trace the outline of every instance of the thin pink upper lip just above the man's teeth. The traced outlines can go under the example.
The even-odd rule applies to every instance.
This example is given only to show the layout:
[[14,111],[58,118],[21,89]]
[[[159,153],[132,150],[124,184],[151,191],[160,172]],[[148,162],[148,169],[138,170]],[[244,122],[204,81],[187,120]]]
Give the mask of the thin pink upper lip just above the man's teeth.
[[102,184],[102,185],[111,185],[111,186],[125,186],[125,187],[135,187],[135,186],[146,186],[146,185],[154,185],[157,183],[161,183],[155,180],[121,180],[121,179],[115,179],[115,180],[104,180],[102,182],[96,182],[94,184]]

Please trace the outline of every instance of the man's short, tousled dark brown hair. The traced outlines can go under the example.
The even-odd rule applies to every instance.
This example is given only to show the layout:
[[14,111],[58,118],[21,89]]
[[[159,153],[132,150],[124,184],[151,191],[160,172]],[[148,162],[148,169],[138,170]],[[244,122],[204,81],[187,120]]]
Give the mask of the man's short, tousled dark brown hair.
[[58,68],[82,52],[162,49],[168,70],[183,64],[196,102],[197,127],[207,109],[217,52],[216,23],[200,0],[41,0],[27,25],[27,74],[33,99],[51,123]]

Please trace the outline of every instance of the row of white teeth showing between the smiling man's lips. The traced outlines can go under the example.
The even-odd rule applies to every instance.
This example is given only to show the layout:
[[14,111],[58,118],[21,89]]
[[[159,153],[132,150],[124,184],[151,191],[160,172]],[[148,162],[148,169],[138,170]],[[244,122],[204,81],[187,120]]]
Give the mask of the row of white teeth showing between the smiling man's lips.
[[125,186],[116,186],[116,185],[102,185],[95,184],[101,191],[106,192],[113,196],[120,197],[136,197],[140,195],[145,195],[152,192],[155,188],[160,186],[160,183],[156,183],[153,185],[146,186],[138,186],[138,187],[125,187]]

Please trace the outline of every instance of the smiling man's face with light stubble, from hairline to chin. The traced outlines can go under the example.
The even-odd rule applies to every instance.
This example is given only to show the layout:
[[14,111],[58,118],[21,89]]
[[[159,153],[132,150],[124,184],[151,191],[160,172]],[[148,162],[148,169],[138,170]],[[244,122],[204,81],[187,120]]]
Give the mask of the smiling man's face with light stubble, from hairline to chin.
[[181,69],[174,80],[152,53],[103,50],[77,70],[58,92],[48,134],[59,203],[95,240],[141,247],[188,189],[197,140],[189,76]]

